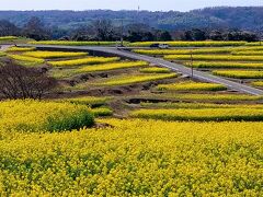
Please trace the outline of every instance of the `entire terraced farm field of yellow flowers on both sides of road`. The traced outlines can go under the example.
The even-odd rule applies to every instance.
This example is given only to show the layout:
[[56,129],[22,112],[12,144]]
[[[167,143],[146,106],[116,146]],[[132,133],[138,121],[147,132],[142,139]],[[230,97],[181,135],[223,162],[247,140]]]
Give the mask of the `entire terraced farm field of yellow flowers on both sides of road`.
[[[170,44],[185,48],[134,51],[263,89],[263,47]],[[263,195],[263,95],[91,51],[12,47],[7,60],[58,86],[41,101],[0,95],[0,196]]]

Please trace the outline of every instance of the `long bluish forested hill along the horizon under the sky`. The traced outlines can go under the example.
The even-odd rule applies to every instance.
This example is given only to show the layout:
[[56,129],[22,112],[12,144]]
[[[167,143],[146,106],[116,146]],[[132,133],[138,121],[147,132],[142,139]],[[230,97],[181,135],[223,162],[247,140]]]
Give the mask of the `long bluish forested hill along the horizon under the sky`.
[[0,20],[9,20],[22,26],[32,16],[38,16],[47,26],[59,28],[76,28],[98,19],[110,19],[119,25],[145,23],[161,30],[188,30],[188,28],[240,28],[248,31],[263,30],[263,7],[238,8],[206,8],[190,12],[149,12],[149,11],[0,11]]

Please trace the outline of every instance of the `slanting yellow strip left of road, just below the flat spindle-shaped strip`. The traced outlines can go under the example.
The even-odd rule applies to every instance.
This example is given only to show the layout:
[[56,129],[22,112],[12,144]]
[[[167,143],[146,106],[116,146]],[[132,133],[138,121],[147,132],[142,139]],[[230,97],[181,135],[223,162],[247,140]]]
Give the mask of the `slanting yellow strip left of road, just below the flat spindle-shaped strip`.
[[87,57],[81,59],[72,59],[72,60],[61,60],[61,61],[48,61],[53,67],[72,67],[72,66],[81,66],[81,65],[96,65],[96,63],[106,63],[118,61],[118,57]]

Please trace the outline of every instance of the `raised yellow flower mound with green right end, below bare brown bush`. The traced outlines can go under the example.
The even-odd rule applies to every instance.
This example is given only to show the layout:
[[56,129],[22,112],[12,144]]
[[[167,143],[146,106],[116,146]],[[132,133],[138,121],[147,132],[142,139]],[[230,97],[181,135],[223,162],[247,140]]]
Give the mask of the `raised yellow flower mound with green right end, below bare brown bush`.
[[83,105],[32,100],[0,102],[0,127],[4,130],[60,131],[92,124],[92,113]]

